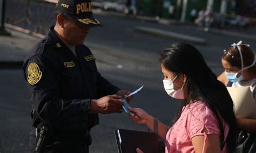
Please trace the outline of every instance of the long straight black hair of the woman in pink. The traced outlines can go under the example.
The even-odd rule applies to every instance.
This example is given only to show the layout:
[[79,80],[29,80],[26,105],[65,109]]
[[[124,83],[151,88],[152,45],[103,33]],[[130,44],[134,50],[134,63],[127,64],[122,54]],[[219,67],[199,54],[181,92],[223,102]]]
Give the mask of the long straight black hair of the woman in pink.
[[[216,75],[207,66],[197,48],[186,43],[172,44],[161,53],[160,64],[176,75],[181,72],[187,76],[188,98],[180,103],[172,124],[177,122],[182,108],[190,101],[203,101],[212,110],[218,121],[220,144],[226,143],[228,152],[233,152],[237,144],[237,122],[233,101],[225,85],[217,80]],[[221,117],[230,128],[225,142]]]

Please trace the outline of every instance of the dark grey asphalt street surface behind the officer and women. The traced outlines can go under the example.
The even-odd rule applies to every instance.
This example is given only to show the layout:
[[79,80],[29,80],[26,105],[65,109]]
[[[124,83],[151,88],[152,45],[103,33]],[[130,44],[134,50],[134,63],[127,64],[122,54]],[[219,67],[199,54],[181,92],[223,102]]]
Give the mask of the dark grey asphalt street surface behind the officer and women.
[[[223,71],[220,57],[226,47],[239,40],[250,44],[254,51],[256,47],[253,39],[206,33],[193,25],[165,25],[104,12],[97,13],[96,18],[104,26],[91,29],[85,44],[95,54],[99,71],[123,89],[133,91],[144,85],[131,106],[145,109],[166,124],[170,123],[176,112],[179,100],[165,93],[158,58],[161,50],[178,40],[139,33],[134,30],[136,26],[205,39],[207,45],[195,46],[217,75]],[[0,152],[28,152],[31,105],[21,62],[39,39],[7,30],[11,36],[0,36]],[[90,152],[117,152],[114,130],[119,128],[147,131],[146,127],[132,123],[125,113],[100,115],[99,125],[91,131],[93,143]]]

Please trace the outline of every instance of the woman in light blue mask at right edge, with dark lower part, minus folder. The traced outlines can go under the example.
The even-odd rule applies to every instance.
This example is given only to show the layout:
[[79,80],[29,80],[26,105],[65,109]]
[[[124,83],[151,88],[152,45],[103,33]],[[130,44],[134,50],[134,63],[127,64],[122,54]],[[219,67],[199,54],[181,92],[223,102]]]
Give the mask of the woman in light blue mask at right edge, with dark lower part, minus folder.
[[[227,87],[250,87],[256,102],[256,64],[255,55],[248,44],[232,44],[221,57],[225,71],[218,79]],[[236,152],[247,153],[256,151],[256,120],[237,116],[239,127]]]

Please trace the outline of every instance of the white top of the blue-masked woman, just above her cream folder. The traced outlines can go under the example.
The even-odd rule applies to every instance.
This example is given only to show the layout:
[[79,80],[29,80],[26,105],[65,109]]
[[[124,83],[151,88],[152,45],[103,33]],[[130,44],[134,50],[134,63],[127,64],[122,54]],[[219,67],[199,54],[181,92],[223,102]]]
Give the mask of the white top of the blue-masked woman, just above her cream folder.
[[253,94],[254,102],[256,102],[256,78],[253,78],[250,81],[239,81],[233,82],[232,87],[248,87],[250,86],[251,92]]

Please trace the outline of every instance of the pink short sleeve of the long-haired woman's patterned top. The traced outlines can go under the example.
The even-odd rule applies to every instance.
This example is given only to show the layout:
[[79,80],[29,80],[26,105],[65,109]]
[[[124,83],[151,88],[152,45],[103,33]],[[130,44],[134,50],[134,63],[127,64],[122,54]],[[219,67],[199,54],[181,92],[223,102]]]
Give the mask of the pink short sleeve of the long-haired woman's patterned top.
[[196,106],[190,107],[190,114],[187,120],[187,129],[190,138],[197,135],[205,135],[202,131],[204,128],[208,130],[206,134],[219,134],[220,130],[218,122],[212,110],[204,103],[199,103]]

